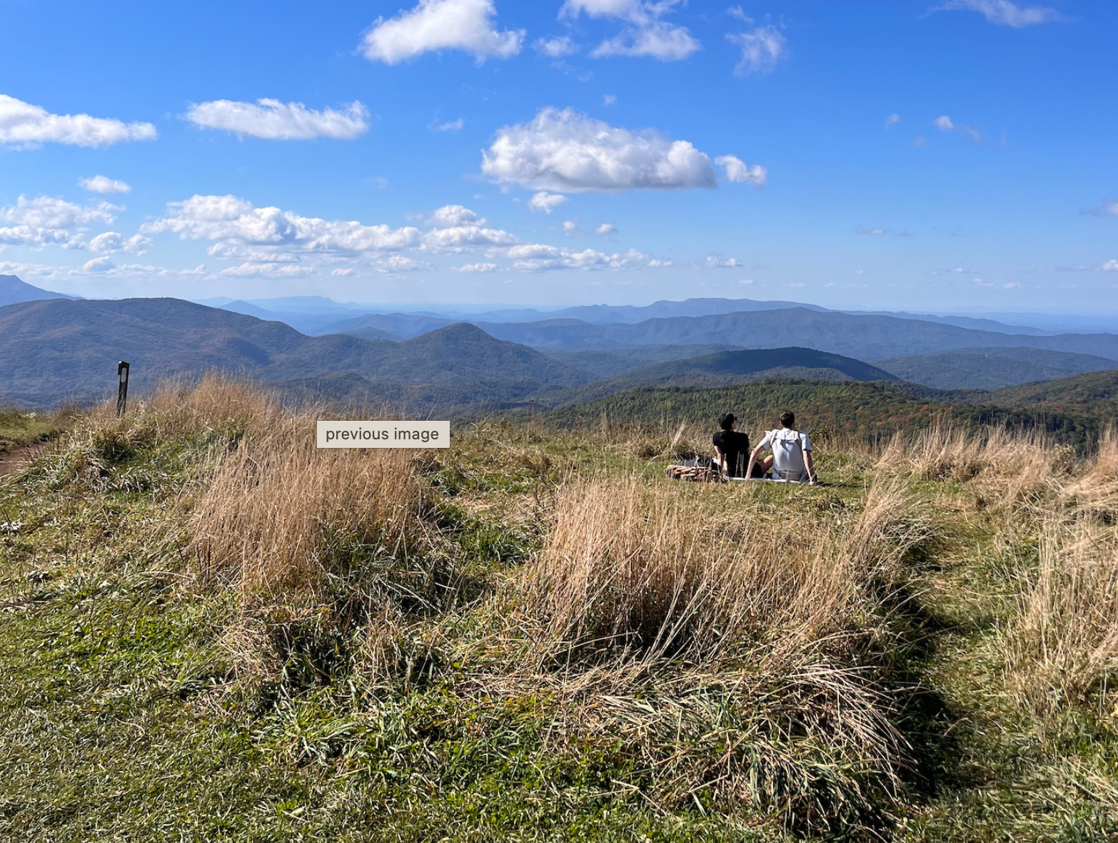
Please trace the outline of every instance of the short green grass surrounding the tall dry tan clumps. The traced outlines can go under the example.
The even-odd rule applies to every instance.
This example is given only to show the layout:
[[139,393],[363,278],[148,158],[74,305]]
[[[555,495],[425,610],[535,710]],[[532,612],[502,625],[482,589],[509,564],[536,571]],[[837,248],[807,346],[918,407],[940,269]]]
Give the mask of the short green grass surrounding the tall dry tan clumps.
[[[363,629],[329,621],[287,629],[278,670],[245,671],[230,638],[245,620],[236,593],[201,584],[184,536],[159,529],[199,482],[215,437],[235,437],[78,438],[0,483],[0,839],[1118,835],[1115,699],[1100,689],[1054,717],[1015,701],[999,646],[1035,536],[976,510],[967,483],[906,481],[928,538],[866,594],[855,643],[818,650],[896,701],[913,757],[896,797],[850,746],[799,719],[787,683],[739,700],[732,671],[667,662],[610,709],[562,676],[508,673],[525,642],[498,634],[502,585],[544,542],[557,489],[571,476],[667,482],[669,460],[641,456],[657,435],[493,422],[425,458],[428,518],[458,598],[409,617],[400,665],[379,674],[360,668]],[[678,491],[730,521],[795,507],[831,524],[856,518],[871,462],[821,453],[822,488]],[[629,717],[655,734],[637,739]],[[695,773],[727,753],[752,772],[751,803]],[[698,776],[691,795],[664,770]],[[811,816],[821,810],[830,816]]]

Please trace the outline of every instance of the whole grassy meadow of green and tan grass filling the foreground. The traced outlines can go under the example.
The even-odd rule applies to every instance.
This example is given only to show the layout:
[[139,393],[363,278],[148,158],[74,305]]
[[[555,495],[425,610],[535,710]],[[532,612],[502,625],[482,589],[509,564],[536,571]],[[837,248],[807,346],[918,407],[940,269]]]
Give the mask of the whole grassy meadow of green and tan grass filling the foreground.
[[1112,434],[832,431],[823,486],[723,486],[664,478],[702,424],[318,418],[0,414],[56,431],[0,480],[0,839],[1118,835]]

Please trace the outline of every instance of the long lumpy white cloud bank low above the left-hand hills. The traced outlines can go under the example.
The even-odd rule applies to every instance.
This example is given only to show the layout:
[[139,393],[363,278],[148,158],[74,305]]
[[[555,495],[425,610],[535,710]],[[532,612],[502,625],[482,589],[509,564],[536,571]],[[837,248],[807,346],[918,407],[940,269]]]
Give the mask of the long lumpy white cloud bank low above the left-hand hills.
[[301,217],[278,208],[255,208],[234,195],[195,195],[169,202],[167,215],[145,224],[145,233],[170,231],[183,240],[320,253],[397,251],[417,246],[420,232],[407,227],[366,226],[356,221]]

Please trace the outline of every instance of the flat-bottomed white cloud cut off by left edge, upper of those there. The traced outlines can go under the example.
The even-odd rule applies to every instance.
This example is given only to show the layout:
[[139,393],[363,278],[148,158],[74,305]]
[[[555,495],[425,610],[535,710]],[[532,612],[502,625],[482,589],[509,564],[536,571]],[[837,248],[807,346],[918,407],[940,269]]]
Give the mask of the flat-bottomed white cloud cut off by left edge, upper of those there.
[[51,114],[38,105],[0,94],[0,144],[34,149],[45,143],[108,146],[125,141],[154,141],[151,123],[123,123],[88,114]]

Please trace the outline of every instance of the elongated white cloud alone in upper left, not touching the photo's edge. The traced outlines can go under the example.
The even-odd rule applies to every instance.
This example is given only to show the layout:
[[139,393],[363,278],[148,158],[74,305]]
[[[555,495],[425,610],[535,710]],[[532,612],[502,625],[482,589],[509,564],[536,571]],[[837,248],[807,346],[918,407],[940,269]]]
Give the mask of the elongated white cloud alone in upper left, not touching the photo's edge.
[[268,141],[307,141],[313,137],[352,141],[369,130],[369,109],[358,102],[339,111],[323,108],[316,112],[302,103],[281,103],[278,99],[257,99],[255,103],[215,99],[191,105],[186,117],[202,128],[218,128]]

